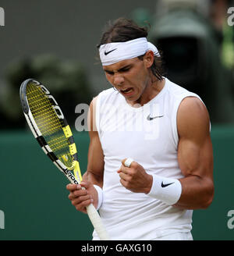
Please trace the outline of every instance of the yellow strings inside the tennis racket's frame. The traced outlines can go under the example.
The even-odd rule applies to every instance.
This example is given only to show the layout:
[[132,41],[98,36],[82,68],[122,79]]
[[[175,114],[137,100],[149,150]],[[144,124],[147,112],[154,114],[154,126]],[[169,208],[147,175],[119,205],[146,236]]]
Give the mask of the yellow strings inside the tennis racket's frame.
[[44,91],[41,90],[41,87],[28,84],[27,100],[34,120],[48,146],[64,165],[71,168],[74,159],[69,151],[69,140],[65,136],[62,124]]

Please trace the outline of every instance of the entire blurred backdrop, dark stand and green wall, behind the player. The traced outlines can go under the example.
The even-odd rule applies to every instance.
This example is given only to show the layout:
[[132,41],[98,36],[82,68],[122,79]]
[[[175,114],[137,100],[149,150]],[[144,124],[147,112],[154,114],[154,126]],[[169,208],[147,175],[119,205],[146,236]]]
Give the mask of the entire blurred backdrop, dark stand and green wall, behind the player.
[[[194,240],[233,240],[227,226],[234,210],[234,26],[233,1],[140,0],[114,2],[0,2],[0,240],[90,240],[92,226],[70,203],[62,173],[44,156],[27,128],[20,107],[20,84],[42,83],[62,105],[73,126],[80,165],[87,166],[89,137],[75,130],[89,104],[110,87],[97,59],[96,44],[108,20],[120,16],[147,26],[149,40],[165,61],[167,77],[196,92],[211,115],[215,156],[215,198],[193,212]],[[233,20],[234,21],[234,20]],[[234,224],[234,223],[233,223]]]

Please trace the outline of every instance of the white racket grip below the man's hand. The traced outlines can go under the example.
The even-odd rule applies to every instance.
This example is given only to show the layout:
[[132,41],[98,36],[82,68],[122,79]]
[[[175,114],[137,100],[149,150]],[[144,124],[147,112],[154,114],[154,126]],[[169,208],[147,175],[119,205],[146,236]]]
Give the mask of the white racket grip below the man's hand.
[[101,222],[101,218],[96,208],[94,207],[94,204],[88,205],[86,209],[87,209],[87,214],[89,215],[89,218],[90,218],[90,222],[92,222],[94,229],[96,230],[100,240],[110,240],[108,233],[106,232],[105,227]]

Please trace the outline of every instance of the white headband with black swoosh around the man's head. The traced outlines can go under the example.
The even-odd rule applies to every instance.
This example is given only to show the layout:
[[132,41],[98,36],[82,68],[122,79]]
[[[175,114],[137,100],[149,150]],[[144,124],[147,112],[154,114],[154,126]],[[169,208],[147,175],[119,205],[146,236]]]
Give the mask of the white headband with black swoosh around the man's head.
[[140,37],[126,42],[101,44],[99,54],[102,66],[108,66],[124,59],[144,55],[149,50],[160,56],[154,44],[148,42],[146,37]]

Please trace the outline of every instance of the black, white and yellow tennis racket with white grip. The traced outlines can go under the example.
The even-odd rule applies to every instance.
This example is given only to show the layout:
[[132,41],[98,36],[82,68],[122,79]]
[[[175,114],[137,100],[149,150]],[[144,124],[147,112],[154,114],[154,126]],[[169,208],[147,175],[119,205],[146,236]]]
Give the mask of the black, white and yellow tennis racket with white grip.
[[[55,98],[40,82],[28,79],[20,86],[20,101],[30,130],[44,153],[71,183],[79,184],[82,176],[73,133]],[[87,206],[87,214],[100,240],[109,240],[93,204]]]

